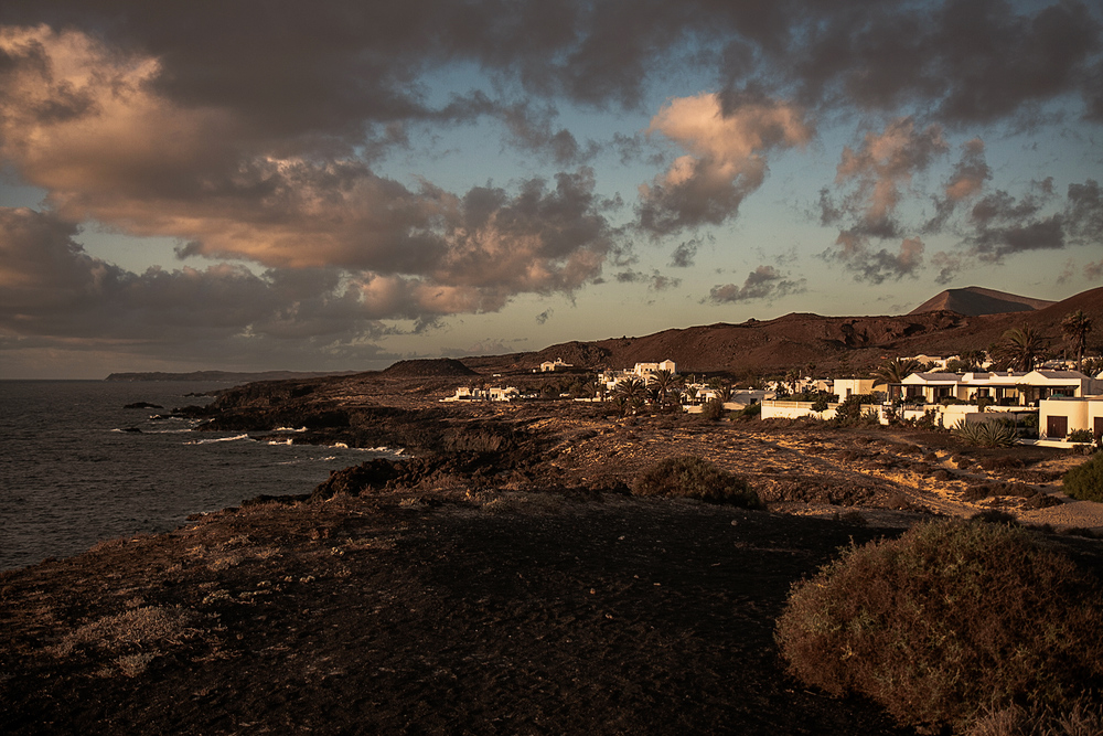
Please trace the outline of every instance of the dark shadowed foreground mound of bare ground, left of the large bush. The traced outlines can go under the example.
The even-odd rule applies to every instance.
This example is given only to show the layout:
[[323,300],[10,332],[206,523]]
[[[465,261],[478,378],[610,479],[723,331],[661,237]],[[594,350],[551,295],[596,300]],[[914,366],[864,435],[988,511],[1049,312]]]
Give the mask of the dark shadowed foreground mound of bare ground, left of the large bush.
[[783,674],[854,536],[689,501],[260,504],[0,577],[9,734],[896,734]]

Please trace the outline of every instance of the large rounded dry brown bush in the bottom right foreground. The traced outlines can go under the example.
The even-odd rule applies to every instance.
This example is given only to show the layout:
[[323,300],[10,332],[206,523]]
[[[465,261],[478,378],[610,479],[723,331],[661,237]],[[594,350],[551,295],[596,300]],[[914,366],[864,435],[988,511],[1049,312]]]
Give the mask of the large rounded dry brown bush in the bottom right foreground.
[[920,524],[794,586],[790,671],[863,693],[901,724],[965,725],[1013,703],[1067,708],[1103,682],[1097,582],[1020,529]]

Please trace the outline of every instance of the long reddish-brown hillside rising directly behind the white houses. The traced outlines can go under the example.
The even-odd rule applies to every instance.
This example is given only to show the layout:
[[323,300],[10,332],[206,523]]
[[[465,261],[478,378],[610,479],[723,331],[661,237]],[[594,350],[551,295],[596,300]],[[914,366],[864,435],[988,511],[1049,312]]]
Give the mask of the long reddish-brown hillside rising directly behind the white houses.
[[531,371],[545,360],[561,358],[579,369],[631,366],[671,359],[682,373],[760,374],[816,365],[816,372],[865,371],[896,355],[953,354],[984,350],[1013,327],[1030,326],[1052,345],[1061,341],[1061,320],[1075,310],[1092,318],[1089,348],[1103,344],[1103,287],[1084,291],[1045,309],[968,317],[932,311],[899,317],[821,317],[792,313],[769,321],[717,323],[671,329],[639,338],[567,342],[538,352],[465,358],[482,373]]

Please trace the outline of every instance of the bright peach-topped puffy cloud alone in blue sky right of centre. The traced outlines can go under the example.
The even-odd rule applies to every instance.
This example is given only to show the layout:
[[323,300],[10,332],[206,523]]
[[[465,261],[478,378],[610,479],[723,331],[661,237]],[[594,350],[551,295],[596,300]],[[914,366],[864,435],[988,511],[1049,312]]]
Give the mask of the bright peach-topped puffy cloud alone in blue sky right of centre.
[[675,98],[652,118],[647,134],[662,134],[686,153],[640,186],[642,230],[667,235],[736,216],[765,179],[765,154],[812,138],[812,126],[791,104],[747,96],[728,110],[722,102],[707,93]]

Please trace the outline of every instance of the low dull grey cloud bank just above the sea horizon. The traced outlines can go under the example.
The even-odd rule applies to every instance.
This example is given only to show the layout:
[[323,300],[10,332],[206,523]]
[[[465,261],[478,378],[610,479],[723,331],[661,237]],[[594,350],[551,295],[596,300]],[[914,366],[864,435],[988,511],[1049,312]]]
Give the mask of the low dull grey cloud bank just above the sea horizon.
[[378,334],[371,305],[340,274],[218,264],[135,274],[88,255],[73,223],[25,207],[0,207],[0,333],[184,344],[242,337],[351,340]]

